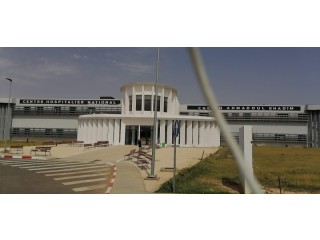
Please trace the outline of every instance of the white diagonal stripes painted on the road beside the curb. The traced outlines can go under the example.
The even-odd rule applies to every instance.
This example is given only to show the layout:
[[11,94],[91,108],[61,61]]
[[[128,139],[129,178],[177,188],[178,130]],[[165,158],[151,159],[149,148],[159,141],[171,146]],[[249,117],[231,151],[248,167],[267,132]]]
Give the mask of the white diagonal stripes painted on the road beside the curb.
[[37,159],[0,159],[0,164],[44,174],[77,193],[105,192],[113,175],[113,166],[99,161],[80,162]]

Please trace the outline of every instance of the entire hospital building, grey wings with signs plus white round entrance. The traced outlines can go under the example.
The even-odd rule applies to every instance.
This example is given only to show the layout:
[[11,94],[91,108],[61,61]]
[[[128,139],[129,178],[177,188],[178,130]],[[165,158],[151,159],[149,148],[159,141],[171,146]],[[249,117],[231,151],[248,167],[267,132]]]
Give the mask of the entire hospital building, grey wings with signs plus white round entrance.
[[[182,104],[178,90],[136,82],[120,88],[121,99],[0,98],[0,140],[109,141],[112,145],[152,143],[157,111],[157,144],[173,144],[174,123],[179,123],[180,147],[218,147],[224,144],[212,111],[204,104]],[[9,104],[10,102],[10,104]],[[8,105],[10,107],[8,108]],[[157,105],[157,109],[155,109]],[[320,105],[221,105],[231,132],[253,128],[253,143],[319,147]]]

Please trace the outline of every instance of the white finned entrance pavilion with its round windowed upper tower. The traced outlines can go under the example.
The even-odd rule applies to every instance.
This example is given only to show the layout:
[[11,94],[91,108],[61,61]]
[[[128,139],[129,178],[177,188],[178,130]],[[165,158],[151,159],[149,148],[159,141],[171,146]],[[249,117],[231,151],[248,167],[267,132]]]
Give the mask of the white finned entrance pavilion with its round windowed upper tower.
[[[151,143],[153,131],[155,89],[153,83],[124,85],[122,114],[90,114],[79,117],[78,141],[95,143],[109,141],[113,145]],[[181,116],[177,91],[158,85],[157,143],[173,144],[173,123],[179,121],[181,147],[218,147],[220,130],[214,118]]]

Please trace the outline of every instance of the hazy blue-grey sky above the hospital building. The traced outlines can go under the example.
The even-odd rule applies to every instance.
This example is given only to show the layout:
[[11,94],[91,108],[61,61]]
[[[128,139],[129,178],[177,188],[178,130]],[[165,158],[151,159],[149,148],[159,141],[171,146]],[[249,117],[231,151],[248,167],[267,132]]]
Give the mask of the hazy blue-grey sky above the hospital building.
[[[320,48],[201,48],[220,104],[320,104]],[[121,98],[155,81],[156,48],[0,48],[0,97]],[[159,83],[204,103],[186,48],[160,48]]]

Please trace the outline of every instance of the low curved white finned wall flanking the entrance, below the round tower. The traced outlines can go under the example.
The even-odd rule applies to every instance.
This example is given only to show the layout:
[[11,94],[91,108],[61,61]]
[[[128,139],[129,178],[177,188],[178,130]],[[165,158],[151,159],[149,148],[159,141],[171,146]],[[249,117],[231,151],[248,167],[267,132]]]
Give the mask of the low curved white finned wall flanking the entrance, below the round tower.
[[[80,119],[81,127],[79,127],[78,140],[82,140],[85,143],[95,143],[102,140],[109,141],[114,145],[124,145],[126,126],[153,125],[153,118],[133,118],[122,115],[114,116],[113,118],[108,117],[108,115],[90,115],[90,117],[87,115]],[[160,122],[160,135],[158,137],[161,143],[166,142],[168,145],[173,143],[172,121],[172,119],[164,118],[158,121]],[[165,138],[166,133],[167,139]],[[181,137],[181,147],[220,146],[220,130],[212,121],[201,121],[200,119],[192,121],[190,118],[181,120],[179,137]],[[185,137],[187,138],[186,142]],[[177,139],[178,142],[179,138]]]

